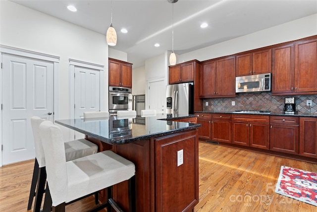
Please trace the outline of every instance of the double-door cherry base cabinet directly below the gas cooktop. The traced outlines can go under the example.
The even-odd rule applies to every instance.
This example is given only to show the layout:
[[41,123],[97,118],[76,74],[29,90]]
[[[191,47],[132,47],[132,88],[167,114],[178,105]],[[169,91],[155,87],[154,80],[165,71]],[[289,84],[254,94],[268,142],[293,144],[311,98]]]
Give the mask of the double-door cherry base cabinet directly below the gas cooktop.
[[232,115],[232,143],[269,149],[269,116]]

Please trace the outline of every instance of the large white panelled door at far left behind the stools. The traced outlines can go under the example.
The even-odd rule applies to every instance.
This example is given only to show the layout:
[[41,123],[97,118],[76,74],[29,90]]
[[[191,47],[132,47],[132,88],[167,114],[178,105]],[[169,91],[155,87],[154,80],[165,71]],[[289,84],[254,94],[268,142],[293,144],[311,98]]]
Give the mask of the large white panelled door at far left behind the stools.
[[53,121],[53,63],[2,55],[2,164],[35,158],[30,118]]

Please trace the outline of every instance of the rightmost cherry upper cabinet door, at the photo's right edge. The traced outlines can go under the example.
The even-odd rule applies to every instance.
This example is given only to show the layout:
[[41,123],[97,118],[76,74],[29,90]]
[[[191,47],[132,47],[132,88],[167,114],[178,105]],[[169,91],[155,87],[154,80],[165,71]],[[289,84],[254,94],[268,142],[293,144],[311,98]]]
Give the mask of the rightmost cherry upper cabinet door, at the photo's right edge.
[[317,39],[295,43],[295,92],[317,91]]

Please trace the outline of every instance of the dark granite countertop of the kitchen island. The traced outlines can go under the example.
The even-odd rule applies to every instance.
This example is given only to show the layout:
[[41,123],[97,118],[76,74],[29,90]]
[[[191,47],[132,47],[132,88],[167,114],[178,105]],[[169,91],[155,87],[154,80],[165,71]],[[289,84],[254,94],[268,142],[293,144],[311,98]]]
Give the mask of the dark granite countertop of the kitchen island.
[[154,117],[145,117],[145,125],[133,123],[132,118],[117,119],[116,116],[105,120],[56,120],[55,123],[109,144],[125,144],[201,127],[201,124],[172,121],[191,117],[197,115],[157,114]]

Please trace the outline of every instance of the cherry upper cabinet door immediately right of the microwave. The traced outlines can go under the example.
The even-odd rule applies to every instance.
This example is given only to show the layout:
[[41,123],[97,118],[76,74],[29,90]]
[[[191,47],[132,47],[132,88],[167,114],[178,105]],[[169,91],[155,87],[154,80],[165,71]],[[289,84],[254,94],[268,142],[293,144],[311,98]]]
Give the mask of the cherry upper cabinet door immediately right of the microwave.
[[294,91],[294,44],[272,49],[272,94]]

